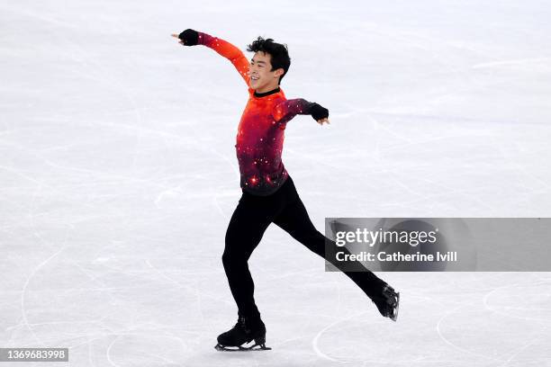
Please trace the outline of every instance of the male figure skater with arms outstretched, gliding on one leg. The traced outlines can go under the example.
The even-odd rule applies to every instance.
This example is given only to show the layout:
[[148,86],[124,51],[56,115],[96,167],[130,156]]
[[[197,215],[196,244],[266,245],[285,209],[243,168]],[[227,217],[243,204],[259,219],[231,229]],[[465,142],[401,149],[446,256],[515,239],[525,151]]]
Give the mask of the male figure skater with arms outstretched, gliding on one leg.
[[[248,51],[255,53],[249,62],[238,48],[209,34],[188,29],[172,36],[182,45],[203,45],[228,58],[248,86],[248,103],[239,121],[235,145],[242,195],[231,216],[222,255],[231,294],[238,306],[238,323],[218,336],[216,348],[248,350],[259,345],[266,349],[266,326],[255,304],[248,258],[271,223],[283,228],[312,252],[324,256],[327,238],[312,225],[281,155],[288,121],[303,114],[311,115],[323,125],[329,123],[329,111],[302,98],[285,98],[279,85],[291,59],[282,44],[258,37],[248,45]],[[336,245],[330,241],[330,246]],[[342,266],[331,263],[338,268]],[[399,294],[363,265],[353,266],[356,269],[348,268],[344,273],[375,302],[384,317],[395,321]],[[242,346],[253,340],[255,345]]]

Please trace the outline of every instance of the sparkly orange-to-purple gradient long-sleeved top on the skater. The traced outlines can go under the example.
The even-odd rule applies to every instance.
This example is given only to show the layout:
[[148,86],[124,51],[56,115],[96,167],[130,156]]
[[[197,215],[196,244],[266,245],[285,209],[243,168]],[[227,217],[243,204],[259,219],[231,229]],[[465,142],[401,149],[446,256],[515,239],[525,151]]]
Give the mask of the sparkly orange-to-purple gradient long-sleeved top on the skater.
[[[238,48],[203,32],[198,43],[228,58],[248,86],[248,59]],[[248,86],[235,145],[244,192],[266,196],[285,183],[288,174],[281,160],[285,126],[297,114],[311,114],[312,105],[302,98],[287,100],[280,88],[258,94]]]

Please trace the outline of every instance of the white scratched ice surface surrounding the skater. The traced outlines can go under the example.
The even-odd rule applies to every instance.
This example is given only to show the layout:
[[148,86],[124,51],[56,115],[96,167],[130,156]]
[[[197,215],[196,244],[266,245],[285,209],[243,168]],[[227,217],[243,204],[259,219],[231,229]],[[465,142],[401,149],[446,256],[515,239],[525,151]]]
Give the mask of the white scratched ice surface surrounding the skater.
[[0,347],[77,367],[551,366],[551,273],[378,273],[393,323],[276,226],[250,261],[274,349],[216,352],[248,94],[170,37],[288,45],[285,94],[330,109],[289,122],[283,156],[323,230],[551,216],[549,19],[545,1],[0,0]]

